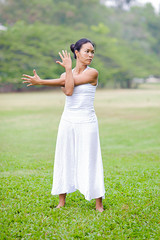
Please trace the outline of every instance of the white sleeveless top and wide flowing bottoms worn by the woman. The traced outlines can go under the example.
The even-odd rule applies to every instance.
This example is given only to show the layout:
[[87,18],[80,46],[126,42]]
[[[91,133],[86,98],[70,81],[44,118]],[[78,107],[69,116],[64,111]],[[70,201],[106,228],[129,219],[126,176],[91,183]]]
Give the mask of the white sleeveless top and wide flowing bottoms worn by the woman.
[[86,200],[104,198],[95,91],[96,86],[87,83],[75,86],[72,96],[66,96],[55,150],[52,195],[79,190]]

